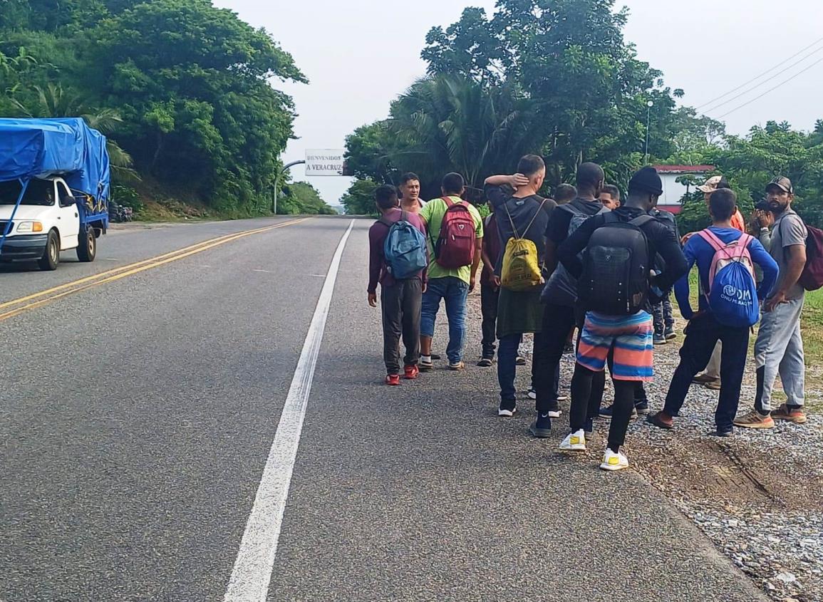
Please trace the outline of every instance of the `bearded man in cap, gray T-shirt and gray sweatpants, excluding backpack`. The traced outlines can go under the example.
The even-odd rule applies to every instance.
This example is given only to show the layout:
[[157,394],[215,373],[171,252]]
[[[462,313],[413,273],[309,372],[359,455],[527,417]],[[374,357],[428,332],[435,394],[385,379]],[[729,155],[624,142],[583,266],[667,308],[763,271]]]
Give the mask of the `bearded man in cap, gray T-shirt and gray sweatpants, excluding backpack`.
[[[800,332],[805,290],[798,280],[806,266],[808,231],[800,215],[792,209],[794,190],[788,178],[774,178],[766,187],[766,199],[769,211],[774,214],[770,254],[780,273],[777,284],[763,304],[755,343],[755,409],[734,421],[737,426],[746,428],[773,428],[774,420],[806,422],[803,413],[806,366]],[[772,411],[772,389],[778,374],[788,401]]]

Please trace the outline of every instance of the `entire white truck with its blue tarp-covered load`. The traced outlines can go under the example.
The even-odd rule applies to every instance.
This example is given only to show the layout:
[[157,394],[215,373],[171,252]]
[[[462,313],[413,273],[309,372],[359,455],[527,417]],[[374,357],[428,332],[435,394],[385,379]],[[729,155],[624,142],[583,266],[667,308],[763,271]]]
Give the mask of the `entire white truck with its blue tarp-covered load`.
[[0,262],[93,262],[109,228],[105,137],[81,118],[0,118]]

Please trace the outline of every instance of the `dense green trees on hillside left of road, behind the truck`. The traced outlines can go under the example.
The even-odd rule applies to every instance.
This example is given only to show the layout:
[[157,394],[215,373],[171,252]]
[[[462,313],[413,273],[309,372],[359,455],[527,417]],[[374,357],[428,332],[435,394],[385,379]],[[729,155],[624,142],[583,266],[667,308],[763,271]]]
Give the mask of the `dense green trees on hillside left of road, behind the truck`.
[[[307,82],[291,55],[211,0],[0,2],[0,116],[86,118],[109,137],[114,201],[137,215],[328,213],[275,181]],[[191,214],[191,215],[189,215]]]

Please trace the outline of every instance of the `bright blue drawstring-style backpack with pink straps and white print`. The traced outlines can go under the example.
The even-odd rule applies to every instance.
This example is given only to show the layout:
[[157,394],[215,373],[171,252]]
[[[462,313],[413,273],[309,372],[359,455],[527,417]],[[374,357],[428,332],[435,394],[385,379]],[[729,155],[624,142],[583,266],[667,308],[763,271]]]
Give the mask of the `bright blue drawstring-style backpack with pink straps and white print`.
[[749,253],[751,236],[741,234],[727,244],[709,229],[697,234],[714,248],[706,293],[709,309],[717,321],[726,326],[754,326],[760,319],[760,304]]

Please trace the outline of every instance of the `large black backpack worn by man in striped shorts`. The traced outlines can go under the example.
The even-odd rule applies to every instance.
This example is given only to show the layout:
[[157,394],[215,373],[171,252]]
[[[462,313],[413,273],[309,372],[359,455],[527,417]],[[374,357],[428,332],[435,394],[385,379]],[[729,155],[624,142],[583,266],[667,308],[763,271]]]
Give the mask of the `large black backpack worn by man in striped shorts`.
[[639,215],[622,221],[614,211],[603,214],[583,252],[583,274],[577,281],[578,302],[587,311],[631,316],[649,295],[649,240],[641,229],[654,220]]

